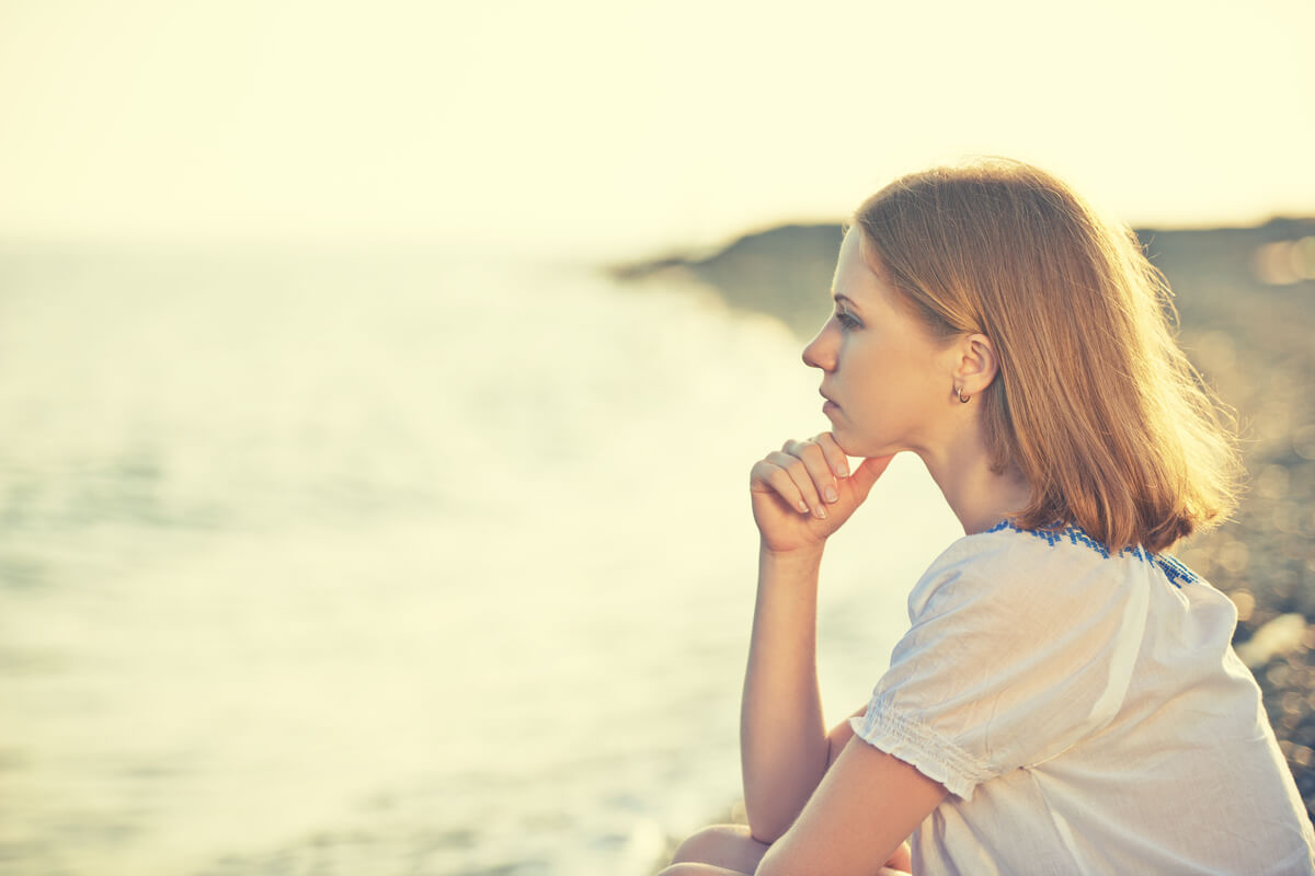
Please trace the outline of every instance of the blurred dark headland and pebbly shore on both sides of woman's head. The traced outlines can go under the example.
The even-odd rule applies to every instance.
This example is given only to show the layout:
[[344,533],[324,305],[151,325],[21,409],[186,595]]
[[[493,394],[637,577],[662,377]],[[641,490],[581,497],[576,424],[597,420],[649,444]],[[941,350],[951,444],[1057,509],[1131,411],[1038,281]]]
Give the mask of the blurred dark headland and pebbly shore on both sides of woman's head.
[[[1173,288],[1182,347],[1236,410],[1249,474],[1233,517],[1176,553],[1236,603],[1233,645],[1315,813],[1315,218],[1137,235]],[[789,225],[609,271],[711,289],[802,339],[826,319],[840,236],[839,223]]]

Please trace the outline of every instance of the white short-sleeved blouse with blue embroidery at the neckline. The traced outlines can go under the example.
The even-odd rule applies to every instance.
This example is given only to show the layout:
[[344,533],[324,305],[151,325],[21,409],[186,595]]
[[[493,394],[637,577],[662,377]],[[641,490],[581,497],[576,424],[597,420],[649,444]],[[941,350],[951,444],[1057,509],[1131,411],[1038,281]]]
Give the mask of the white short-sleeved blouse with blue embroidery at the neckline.
[[949,789],[915,873],[1315,873],[1232,602],[1081,529],[960,538],[857,735]]

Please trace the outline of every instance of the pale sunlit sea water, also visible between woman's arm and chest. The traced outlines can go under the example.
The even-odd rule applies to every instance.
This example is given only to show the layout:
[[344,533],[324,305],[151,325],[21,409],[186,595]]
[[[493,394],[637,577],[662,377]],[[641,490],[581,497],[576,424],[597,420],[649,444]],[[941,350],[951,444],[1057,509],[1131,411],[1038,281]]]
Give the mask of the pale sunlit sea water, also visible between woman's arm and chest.
[[[651,873],[739,792],[800,345],[586,267],[0,251],[0,873]],[[836,536],[830,722],[956,535],[901,458]]]

